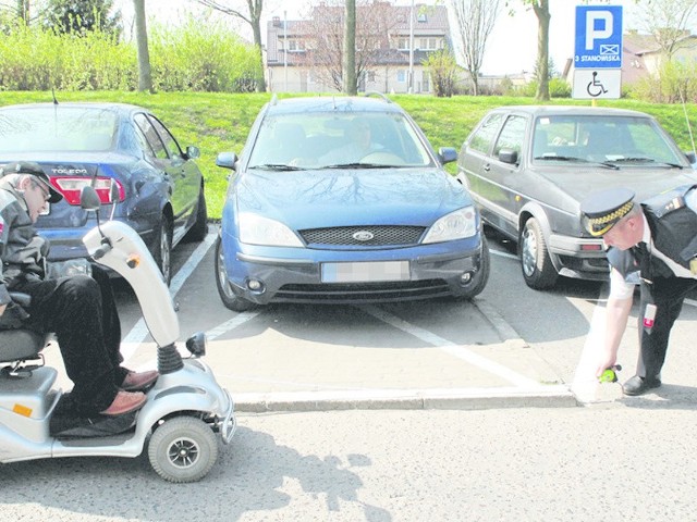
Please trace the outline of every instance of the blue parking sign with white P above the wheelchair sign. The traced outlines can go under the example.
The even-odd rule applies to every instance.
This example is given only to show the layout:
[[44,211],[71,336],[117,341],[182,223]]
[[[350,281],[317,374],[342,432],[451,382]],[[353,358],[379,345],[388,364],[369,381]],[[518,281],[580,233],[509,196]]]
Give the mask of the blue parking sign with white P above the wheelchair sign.
[[622,67],[622,5],[576,7],[574,66]]

